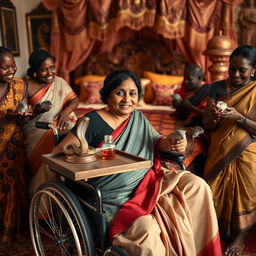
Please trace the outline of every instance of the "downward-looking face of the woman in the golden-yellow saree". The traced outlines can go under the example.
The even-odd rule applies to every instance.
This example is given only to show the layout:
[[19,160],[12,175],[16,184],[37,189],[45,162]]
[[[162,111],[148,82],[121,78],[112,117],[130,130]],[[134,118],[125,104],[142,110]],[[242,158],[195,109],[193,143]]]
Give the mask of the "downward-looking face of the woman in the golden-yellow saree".
[[255,68],[251,66],[249,60],[243,56],[235,56],[229,64],[229,80],[233,86],[246,85],[251,80],[251,75]]

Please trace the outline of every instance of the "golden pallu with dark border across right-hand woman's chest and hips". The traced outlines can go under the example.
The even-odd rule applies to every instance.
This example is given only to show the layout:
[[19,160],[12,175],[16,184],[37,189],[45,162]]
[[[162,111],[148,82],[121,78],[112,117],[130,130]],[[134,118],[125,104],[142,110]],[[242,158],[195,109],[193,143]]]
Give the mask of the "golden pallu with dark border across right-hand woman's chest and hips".
[[[256,120],[256,82],[249,82],[243,88],[224,99],[229,107],[235,107],[245,117]],[[204,178],[214,179],[226,166],[253,142],[253,137],[236,121],[222,120],[211,133]]]

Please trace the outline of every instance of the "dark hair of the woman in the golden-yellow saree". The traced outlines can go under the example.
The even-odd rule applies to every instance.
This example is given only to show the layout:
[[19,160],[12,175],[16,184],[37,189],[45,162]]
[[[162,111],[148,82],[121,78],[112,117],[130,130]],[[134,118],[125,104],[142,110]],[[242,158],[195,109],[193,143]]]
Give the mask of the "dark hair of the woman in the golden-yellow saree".
[[251,45],[238,46],[230,55],[229,61],[236,56],[242,56],[250,61],[251,66],[256,68],[256,49]]

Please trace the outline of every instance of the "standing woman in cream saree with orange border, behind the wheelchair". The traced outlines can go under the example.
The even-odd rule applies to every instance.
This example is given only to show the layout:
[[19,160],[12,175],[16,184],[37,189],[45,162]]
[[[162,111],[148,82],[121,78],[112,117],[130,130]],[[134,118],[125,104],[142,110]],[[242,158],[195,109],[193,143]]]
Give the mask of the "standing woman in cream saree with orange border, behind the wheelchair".
[[78,97],[67,82],[55,75],[55,58],[47,51],[35,50],[29,57],[27,74],[28,101],[34,107],[47,101],[50,110],[31,120],[25,127],[25,150],[32,172],[31,193],[45,181],[47,166],[42,164],[41,155],[51,152],[54,146],[51,130],[35,127],[36,121],[51,122],[59,128],[59,132],[67,133],[76,121],[73,113],[78,106]]

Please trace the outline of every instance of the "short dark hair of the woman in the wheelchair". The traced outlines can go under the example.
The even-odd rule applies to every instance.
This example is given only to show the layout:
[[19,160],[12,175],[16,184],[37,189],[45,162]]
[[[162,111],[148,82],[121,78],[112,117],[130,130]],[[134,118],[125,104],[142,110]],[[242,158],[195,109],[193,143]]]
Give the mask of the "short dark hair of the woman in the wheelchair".
[[107,75],[104,80],[104,86],[100,90],[101,100],[104,103],[108,102],[110,93],[115,90],[123,81],[131,78],[137,89],[139,99],[142,97],[142,88],[139,77],[132,71],[129,70],[115,70]]

